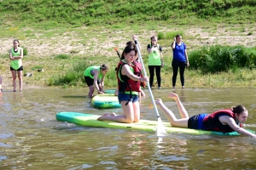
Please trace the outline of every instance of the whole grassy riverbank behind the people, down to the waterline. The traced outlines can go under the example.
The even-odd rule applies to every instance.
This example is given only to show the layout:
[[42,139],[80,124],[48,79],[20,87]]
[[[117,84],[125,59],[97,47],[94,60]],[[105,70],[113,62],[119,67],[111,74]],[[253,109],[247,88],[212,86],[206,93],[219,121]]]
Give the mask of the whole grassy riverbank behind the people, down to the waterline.
[[159,37],[165,59],[162,88],[171,88],[170,44],[176,34],[182,34],[191,65],[185,71],[186,88],[256,87],[254,1],[102,2],[1,2],[4,83],[11,85],[9,48],[18,38],[27,53],[24,74],[33,73],[24,77],[25,86],[82,88],[84,69],[104,63],[111,68],[105,85],[116,87],[114,68],[119,58],[113,48],[121,52],[131,35],[137,34],[146,68],[149,38]]

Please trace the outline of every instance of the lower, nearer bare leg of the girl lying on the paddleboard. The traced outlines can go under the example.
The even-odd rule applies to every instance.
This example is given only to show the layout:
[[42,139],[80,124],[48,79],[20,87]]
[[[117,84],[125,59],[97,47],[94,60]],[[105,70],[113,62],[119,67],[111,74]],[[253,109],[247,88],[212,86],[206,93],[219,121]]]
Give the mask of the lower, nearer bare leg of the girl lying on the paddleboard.
[[[172,127],[188,127],[189,118],[177,119],[171,110],[169,110],[166,105],[163,104],[161,99],[155,100],[155,105],[159,106],[162,111],[164,111],[165,116],[171,123]],[[153,108],[154,105],[150,104],[149,108]]]

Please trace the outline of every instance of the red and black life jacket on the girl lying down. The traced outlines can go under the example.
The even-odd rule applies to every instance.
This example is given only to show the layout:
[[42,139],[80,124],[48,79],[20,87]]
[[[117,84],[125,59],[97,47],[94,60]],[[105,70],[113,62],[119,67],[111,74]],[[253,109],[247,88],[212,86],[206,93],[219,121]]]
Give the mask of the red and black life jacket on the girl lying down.
[[[218,132],[233,132],[234,130],[229,125],[224,125],[221,122],[219,122],[218,117],[219,116],[231,116],[234,120],[235,114],[230,109],[224,109],[220,111],[215,111],[212,114],[206,116],[203,119],[203,125],[207,128],[207,130],[211,131],[218,131]],[[242,124],[240,124],[240,127],[242,127]]]

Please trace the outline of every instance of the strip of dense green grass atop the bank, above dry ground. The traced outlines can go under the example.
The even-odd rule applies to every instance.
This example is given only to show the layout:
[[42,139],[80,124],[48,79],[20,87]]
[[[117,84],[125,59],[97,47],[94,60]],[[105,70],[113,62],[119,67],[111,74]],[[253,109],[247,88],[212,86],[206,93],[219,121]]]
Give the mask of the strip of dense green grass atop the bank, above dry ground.
[[256,20],[255,5],[254,0],[9,0],[0,3],[0,11],[1,24],[19,18],[24,21],[22,26],[31,23],[42,26],[44,21],[48,26],[62,23],[73,27],[143,24],[145,21],[168,21],[180,25],[201,19],[234,24]]

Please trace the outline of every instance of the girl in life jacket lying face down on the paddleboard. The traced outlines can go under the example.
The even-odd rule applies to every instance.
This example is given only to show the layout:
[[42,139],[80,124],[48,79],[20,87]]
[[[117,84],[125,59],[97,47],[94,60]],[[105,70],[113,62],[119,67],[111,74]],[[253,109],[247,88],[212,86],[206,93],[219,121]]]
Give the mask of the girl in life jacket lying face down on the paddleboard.
[[[157,99],[155,104],[164,111],[172,127],[187,127],[226,133],[236,131],[237,133],[256,138],[256,134],[250,133],[242,128],[242,123],[247,121],[248,116],[247,109],[242,105],[237,105],[231,109],[215,111],[212,114],[199,114],[189,117],[177,94],[172,93],[168,97],[176,101],[179,114],[182,117],[181,119],[177,119],[172,111],[163,104],[161,99]],[[149,108],[153,107],[154,105],[149,105]]]

